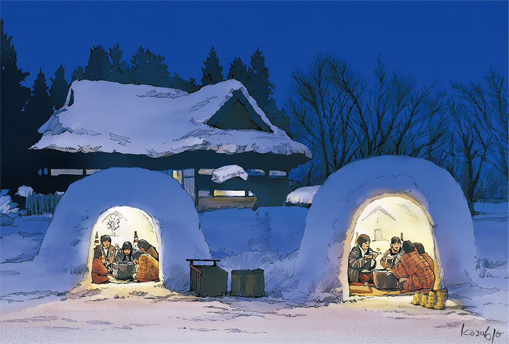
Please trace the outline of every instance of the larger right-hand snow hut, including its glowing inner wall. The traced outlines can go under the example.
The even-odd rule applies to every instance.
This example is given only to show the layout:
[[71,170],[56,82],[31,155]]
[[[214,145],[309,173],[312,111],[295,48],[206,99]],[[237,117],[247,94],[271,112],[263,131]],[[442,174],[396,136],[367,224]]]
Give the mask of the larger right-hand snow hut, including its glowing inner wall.
[[309,208],[292,297],[348,299],[348,255],[359,234],[369,235],[370,248],[382,254],[392,236],[422,243],[435,262],[435,287],[473,274],[474,229],[463,191],[429,161],[378,156],[331,174]]

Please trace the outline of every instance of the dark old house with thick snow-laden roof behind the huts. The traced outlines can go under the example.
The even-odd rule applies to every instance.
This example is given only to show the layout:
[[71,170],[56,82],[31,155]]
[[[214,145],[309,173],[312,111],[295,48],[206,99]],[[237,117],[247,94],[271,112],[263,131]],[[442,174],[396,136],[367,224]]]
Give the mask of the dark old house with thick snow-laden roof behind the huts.
[[[40,162],[38,192],[64,191],[109,167],[141,167],[179,180],[200,210],[282,205],[290,192],[288,172],[311,157],[236,80],[193,93],[75,81],[64,107],[39,133],[31,147]],[[214,171],[234,165],[244,172],[213,178]]]

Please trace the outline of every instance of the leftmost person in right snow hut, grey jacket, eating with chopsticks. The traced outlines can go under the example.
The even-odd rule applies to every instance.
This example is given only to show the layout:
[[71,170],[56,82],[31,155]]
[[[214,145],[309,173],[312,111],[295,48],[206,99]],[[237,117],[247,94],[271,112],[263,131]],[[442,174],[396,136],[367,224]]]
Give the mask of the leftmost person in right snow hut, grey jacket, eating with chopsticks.
[[378,253],[370,249],[371,239],[366,234],[357,238],[357,245],[348,256],[348,282],[373,283],[373,270]]

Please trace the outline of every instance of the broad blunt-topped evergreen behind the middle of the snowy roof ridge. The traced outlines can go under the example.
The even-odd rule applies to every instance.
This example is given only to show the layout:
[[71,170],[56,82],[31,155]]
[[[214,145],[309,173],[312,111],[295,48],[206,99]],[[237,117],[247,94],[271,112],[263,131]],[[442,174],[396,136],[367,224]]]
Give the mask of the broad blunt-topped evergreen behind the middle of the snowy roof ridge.
[[168,66],[163,63],[164,57],[155,55],[149,48],[139,49],[131,58],[131,76],[134,84],[163,86],[168,77]]

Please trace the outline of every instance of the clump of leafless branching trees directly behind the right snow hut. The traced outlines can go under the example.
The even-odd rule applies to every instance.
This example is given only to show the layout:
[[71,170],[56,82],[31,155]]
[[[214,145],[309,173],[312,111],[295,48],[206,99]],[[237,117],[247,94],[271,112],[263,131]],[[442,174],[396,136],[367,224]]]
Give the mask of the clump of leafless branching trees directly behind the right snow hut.
[[[312,149],[323,179],[360,158],[400,154],[436,163],[447,154],[443,93],[415,77],[389,73],[380,58],[370,84],[344,61],[318,54],[292,72],[286,109],[294,139]],[[316,166],[317,164],[314,164]],[[318,181],[319,182],[319,181]]]

